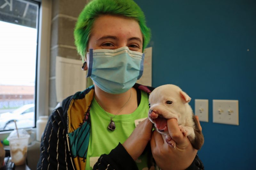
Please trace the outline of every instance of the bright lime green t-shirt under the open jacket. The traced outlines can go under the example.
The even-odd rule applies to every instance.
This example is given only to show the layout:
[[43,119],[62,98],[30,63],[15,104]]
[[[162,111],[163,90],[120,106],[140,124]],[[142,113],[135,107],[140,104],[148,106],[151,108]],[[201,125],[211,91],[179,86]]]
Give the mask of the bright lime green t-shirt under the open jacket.
[[[135,129],[135,120],[148,117],[148,109],[148,94],[144,91],[141,91],[140,105],[137,107],[137,109],[131,114],[116,115],[113,118],[113,121],[116,124],[116,129],[114,131],[110,131],[107,129],[110,118],[93,98],[92,106],[90,109],[90,141],[86,156],[85,169],[92,169],[100,155],[104,153],[108,154],[118,145],[119,142],[123,144]],[[111,117],[114,116],[110,113],[108,114]],[[136,164],[139,169],[148,167],[146,152],[136,160]]]

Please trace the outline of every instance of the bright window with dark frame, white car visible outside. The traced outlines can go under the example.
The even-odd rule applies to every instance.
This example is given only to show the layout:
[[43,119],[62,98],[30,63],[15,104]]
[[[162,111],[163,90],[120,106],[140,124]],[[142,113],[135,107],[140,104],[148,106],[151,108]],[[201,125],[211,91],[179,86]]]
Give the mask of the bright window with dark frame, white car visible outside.
[[0,131],[35,127],[39,5],[0,0]]

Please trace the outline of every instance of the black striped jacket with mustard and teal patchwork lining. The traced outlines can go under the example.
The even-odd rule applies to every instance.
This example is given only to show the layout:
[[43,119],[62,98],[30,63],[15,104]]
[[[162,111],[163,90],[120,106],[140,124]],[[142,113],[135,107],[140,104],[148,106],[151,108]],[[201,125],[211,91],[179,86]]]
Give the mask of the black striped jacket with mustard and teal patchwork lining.
[[[148,94],[154,89],[139,84],[135,84],[133,87]],[[41,154],[37,169],[85,169],[90,138],[90,108],[93,95],[94,86],[92,85],[83,92],[76,92],[76,94],[63,100],[62,106],[52,112],[42,136]],[[109,155],[112,158],[120,157],[120,154],[124,155],[125,158],[130,159],[127,161],[132,162],[131,166],[126,164],[124,169],[137,169],[135,162],[122,145],[119,144],[117,148],[118,153],[113,150]],[[108,157],[108,155],[104,157]],[[97,168],[106,169],[107,167]],[[189,169],[194,168],[204,169],[198,157],[195,158]]]

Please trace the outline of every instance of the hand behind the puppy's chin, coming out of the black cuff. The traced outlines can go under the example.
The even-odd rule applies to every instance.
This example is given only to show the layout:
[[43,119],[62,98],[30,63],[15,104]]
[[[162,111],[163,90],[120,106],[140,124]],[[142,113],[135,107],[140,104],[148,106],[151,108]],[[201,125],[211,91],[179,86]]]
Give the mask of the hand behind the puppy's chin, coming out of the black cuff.
[[123,143],[126,151],[136,160],[144,151],[152,133],[152,122],[145,119],[133,130],[132,134]]

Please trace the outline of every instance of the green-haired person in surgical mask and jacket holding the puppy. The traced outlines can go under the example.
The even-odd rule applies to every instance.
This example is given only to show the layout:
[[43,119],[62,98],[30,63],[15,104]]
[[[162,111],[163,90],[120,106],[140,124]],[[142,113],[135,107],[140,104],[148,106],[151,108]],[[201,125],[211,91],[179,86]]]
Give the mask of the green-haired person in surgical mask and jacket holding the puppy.
[[152,131],[154,88],[136,83],[150,35],[132,0],[92,0],[84,7],[74,37],[93,85],[52,112],[37,169],[204,169],[176,119],[167,121],[176,149]]

